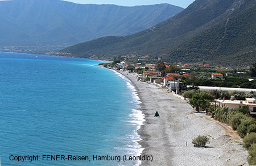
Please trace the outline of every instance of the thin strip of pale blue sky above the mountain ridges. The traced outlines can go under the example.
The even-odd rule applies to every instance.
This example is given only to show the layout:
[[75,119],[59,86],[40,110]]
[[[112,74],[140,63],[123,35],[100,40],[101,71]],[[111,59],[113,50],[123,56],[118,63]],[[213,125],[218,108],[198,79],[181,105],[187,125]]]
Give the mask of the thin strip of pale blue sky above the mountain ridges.
[[114,4],[121,6],[135,6],[135,5],[153,5],[159,3],[169,3],[180,7],[187,7],[195,0],[64,0],[75,3],[93,3],[93,4]]

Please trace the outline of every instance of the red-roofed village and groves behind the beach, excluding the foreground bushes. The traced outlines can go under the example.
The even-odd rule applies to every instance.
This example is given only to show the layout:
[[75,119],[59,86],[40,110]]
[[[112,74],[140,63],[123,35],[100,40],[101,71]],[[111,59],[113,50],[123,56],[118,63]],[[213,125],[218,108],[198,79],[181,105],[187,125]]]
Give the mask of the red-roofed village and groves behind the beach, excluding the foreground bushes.
[[[129,64],[119,60],[103,65],[106,68],[126,71],[127,74],[133,73],[138,81],[166,88],[170,92],[188,99],[192,97],[187,96],[189,90],[211,92],[213,96],[215,92],[222,93],[214,98],[219,106],[226,106],[230,109],[247,107],[251,115],[256,115],[256,76],[255,73],[254,75],[250,74],[250,68],[237,70],[231,67],[212,67],[209,64],[178,63],[168,65],[163,62],[143,65],[142,63]],[[197,81],[203,79],[206,80],[205,82],[218,81],[222,83],[229,82],[229,79],[243,79],[245,82],[240,85],[233,82],[234,84],[231,86],[205,86],[205,82],[200,85],[200,81]],[[187,82],[192,82],[192,84],[188,85]],[[238,96],[239,94],[241,96]]]

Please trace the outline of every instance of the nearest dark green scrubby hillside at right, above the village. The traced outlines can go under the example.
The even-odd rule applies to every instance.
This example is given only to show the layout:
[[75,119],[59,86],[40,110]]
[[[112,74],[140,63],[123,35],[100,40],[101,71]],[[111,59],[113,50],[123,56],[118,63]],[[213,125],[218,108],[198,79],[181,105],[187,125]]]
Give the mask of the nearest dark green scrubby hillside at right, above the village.
[[250,65],[256,61],[256,5],[173,49],[172,61]]

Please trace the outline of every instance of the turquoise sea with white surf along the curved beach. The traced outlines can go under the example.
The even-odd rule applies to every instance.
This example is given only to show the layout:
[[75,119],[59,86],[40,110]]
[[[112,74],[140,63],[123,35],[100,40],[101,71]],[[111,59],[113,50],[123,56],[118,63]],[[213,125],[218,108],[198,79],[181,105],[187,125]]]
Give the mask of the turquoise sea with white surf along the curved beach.
[[[96,60],[0,52],[0,156],[5,165],[138,165],[42,161],[42,155],[137,156],[143,114],[130,81]],[[11,161],[39,156],[40,161]],[[13,159],[13,157],[12,157]]]

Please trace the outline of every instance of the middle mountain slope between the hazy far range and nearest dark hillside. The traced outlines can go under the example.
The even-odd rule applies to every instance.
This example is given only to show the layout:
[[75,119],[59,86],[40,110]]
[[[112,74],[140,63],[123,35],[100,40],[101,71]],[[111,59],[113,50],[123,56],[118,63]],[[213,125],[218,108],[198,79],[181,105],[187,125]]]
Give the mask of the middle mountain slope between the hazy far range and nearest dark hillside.
[[[63,49],[72,56],[114,59],[115,56],[137,55],[153,60],[188,61],[178,45],[204,34],[205,30],[232,18],[255,5],[254,0],[197,0],[187,9],[166,21],[129,36],[108,36]],[[232,27],[230,27],[232,28]],[[183,45],[182,48],[185,46]],[[174,49],[176,52],[174,52]],[[182,56],[182,57],[180,57]],[[200,58],[200,57],[199,57]],[[192,61],[192,58],[189,58]],[[203,57],[201,58],[201,61]]]

